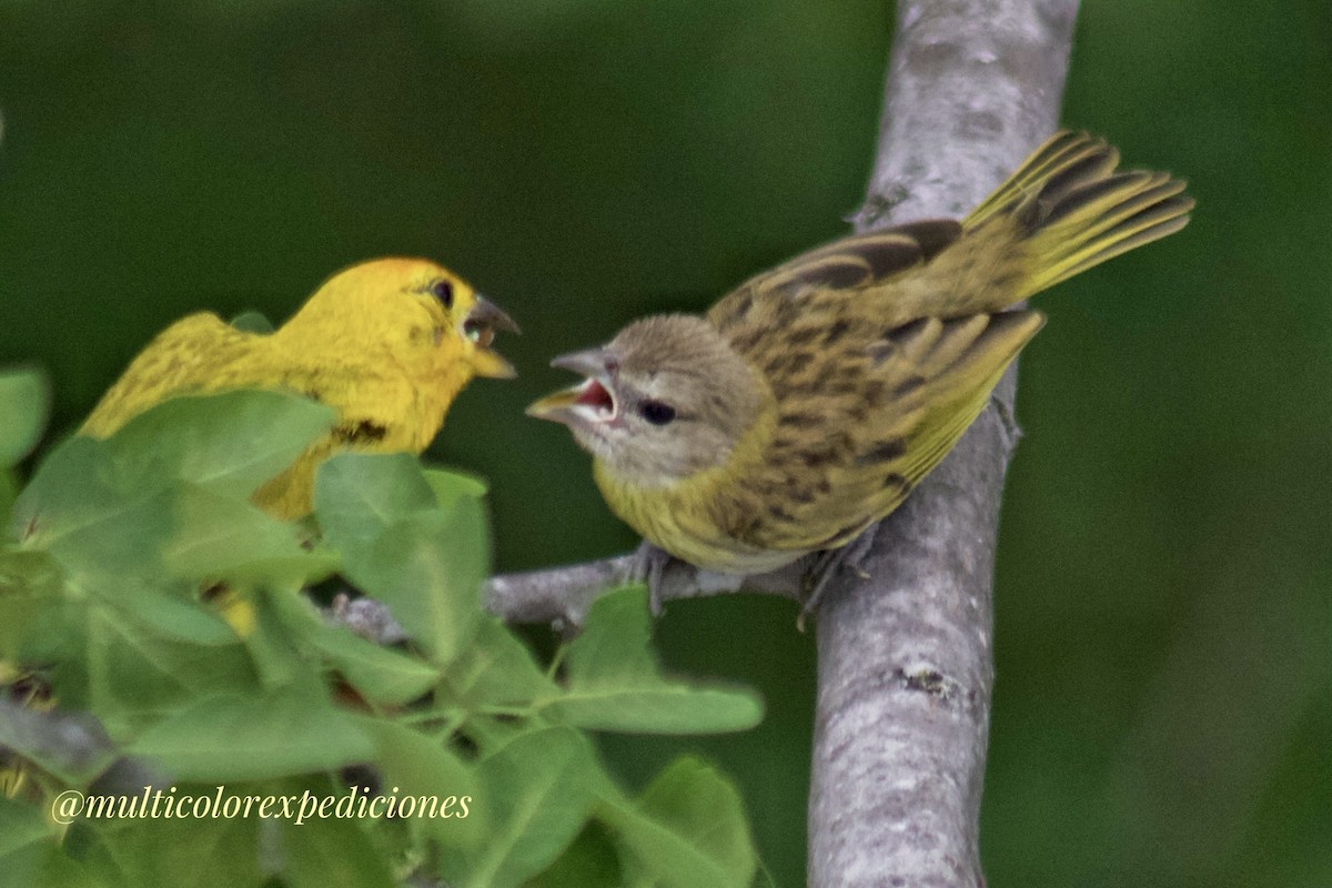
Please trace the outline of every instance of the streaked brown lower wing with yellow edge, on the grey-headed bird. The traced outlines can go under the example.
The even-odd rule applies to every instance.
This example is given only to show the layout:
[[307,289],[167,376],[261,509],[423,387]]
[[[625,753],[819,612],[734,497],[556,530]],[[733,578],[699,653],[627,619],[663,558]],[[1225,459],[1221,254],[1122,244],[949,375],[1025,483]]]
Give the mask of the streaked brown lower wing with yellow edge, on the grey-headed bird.
[[[890,330],[854,365],[811,367],[826,386],[781,398],[755,502],[770,506],[745,542],[840,546],[892,511],[979,415],[1004,367],[1044,324],[1003,312]],[[778,493],[781,491],[781,493]]]

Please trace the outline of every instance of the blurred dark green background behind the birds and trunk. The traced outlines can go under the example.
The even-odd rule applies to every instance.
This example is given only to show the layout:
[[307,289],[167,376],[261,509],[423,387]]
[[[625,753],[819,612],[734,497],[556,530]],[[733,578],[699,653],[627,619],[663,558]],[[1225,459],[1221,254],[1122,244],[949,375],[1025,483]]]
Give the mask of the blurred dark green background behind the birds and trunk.
[[[1188,177],[1181,234],[1060,286],[1023,358],[983,815],[990,885],[1332,884],[1332,12],[1088,0],[1063,118]],[[878,0],[0,0],[0,363],[72,429],[197,309],[442,260],[507,309],[433,455],[489,477],[498,570],[635,541],[562,429],[562,351],[846,232]],[[803,883],[814,650],[789,602],[678,603],[667,663],[765,724],[694,748]]]

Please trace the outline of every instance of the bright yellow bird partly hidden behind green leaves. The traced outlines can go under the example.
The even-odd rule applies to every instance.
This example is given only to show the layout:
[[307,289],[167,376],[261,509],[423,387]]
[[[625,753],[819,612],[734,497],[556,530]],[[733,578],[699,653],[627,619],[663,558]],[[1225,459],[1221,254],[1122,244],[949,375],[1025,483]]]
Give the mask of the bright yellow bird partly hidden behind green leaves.
[[445,268],[382,258],[329,278],[269,335],[216,314],[192,314],[139,354],[84,422],[105,438],[149,407],[181,394],[228,389],[297,391],[337,410],[337,426],[254,493],[278,518],[312,507],[316,467],[340,450],[421,453],[474,375],[509,378],[492,350],[507,314]]

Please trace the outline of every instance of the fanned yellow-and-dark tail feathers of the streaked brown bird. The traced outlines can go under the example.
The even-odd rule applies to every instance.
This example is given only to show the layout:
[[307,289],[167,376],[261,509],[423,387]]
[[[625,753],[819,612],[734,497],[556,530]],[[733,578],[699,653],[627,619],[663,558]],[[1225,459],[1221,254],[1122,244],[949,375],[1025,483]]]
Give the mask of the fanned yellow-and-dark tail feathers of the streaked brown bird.
[[1027,246],[1024,300],[1188,224],[1193,198],[1169,173],[1116,173],[1119,152],[1087,133],[1062,132],[963,221],[976,230],[1016,221]]

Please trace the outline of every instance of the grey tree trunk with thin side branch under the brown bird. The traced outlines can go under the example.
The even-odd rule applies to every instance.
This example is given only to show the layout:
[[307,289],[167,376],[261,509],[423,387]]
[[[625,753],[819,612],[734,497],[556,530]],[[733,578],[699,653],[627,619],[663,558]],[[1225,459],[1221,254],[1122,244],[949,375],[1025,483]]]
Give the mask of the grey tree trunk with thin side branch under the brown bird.
[[[858,230],[958,217],[1055,130],[1076,0],[900,0]],[[818,614],[810,879],[980,887],[995,535],[1015,371],[944,462],[859,545]],[[631,556],[497,576],[490,610],[578,622]],[[733,588],[793,586],[733,578]],[[691,579],[693,576],[693,579]],[[794,578],[794,580],[791,579]],[[663,599],[725,591],[677,575]]]

